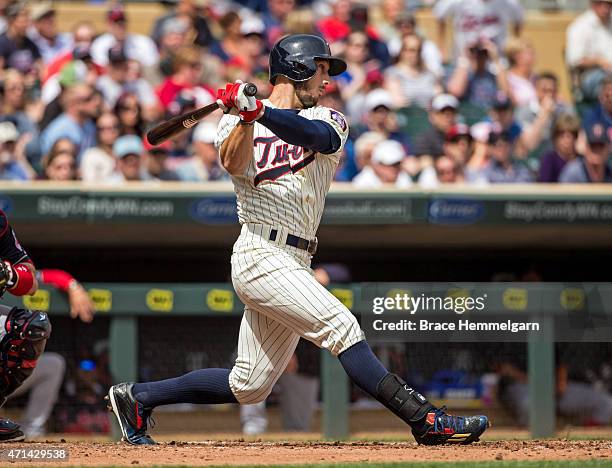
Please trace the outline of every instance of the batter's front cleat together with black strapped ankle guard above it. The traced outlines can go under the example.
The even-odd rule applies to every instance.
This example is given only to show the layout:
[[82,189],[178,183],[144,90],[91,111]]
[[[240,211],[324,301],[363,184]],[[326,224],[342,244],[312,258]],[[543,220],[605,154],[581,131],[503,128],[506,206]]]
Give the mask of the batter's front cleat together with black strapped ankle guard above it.
[[470,444],[489,427],[486,416],[452,416],[437,409],[395,374],[387,374],[377,390],[378,401],[412,427],[419,444]]

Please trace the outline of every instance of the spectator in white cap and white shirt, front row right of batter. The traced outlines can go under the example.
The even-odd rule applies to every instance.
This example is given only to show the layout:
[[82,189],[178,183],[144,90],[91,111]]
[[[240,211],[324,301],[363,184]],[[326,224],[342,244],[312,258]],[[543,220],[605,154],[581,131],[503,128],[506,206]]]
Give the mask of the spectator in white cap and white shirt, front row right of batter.
[[402,170],[406,158],[404,147],[395,140],[385,140],[378,144],[368,164],[353,179],[353,185],[360,189],[380,188],[395,185],[398,188],[410,187],[412,179]]

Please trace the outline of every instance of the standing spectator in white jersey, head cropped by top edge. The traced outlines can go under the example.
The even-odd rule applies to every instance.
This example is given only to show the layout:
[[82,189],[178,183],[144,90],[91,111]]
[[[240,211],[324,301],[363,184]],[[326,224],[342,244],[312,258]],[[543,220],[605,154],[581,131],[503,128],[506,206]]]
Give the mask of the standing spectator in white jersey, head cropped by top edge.
[[[466,47],[487,38],[504,50],[508,26],[519,36],[523,7],[519,0],[440,0],[433,9],[438,19],[438,45],[445,61],[460,56]],[[446,48],[446,22],[452,21],[454,51]]]

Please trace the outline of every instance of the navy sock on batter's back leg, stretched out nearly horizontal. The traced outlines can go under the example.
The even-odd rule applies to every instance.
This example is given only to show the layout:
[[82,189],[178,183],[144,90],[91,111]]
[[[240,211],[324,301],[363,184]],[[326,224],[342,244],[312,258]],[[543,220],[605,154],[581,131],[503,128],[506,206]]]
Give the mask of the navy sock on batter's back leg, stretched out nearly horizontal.
[[132,394],[145,408],[172,403],[238,403],[229,369],[199,369],[173,379],[135,384]]

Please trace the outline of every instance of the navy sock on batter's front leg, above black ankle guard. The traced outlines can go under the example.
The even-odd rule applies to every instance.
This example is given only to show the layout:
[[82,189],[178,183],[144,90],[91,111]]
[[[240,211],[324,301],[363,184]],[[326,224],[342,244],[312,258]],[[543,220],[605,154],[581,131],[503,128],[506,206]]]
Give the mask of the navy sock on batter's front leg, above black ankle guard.
[[366,341],[355,343],[342,351],[338,359],[351,380],[376,398],[378,383],[389,371],[380,363],[370,345]]

